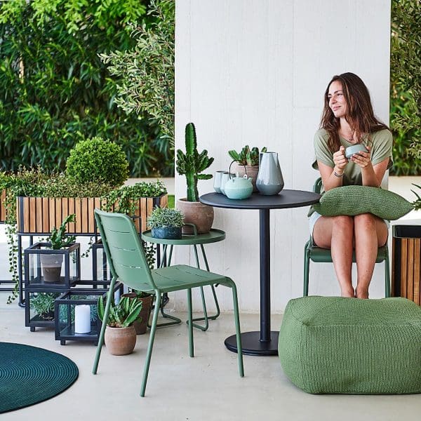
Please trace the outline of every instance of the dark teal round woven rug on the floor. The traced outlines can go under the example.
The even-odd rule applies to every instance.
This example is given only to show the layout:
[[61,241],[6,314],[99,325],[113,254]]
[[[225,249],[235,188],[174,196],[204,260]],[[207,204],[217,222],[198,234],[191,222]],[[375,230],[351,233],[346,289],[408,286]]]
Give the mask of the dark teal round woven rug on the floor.
[[46,401],[71,386],[78,375],[67,356],[0,342],[0,413]]

